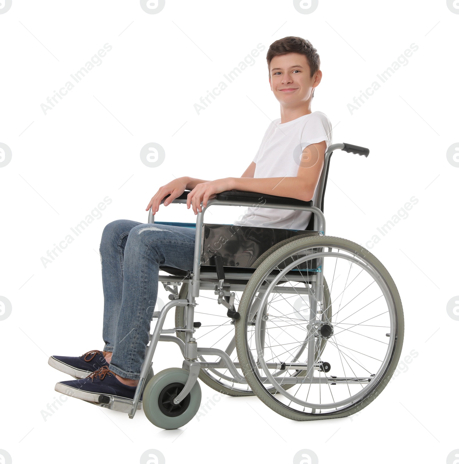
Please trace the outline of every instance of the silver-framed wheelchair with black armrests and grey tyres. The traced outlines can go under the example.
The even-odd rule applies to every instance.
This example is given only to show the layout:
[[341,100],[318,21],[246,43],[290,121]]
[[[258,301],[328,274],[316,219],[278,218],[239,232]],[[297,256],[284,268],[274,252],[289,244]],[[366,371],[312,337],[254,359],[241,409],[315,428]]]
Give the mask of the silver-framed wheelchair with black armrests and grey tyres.
[[[134,400],[99,398],[129,413],[142,406],[163,429],[187,424],[200,409],[198,378],[231,396],[256,395],[293,420],[349,416],[390,380],[403,344],[403,311],[392,277],[356,243],[325,235],[323,200],[334,150],[368,156],[368,148],[336,143],[324,158],[317,204],[261,193],[227,191],[209,200],[195,227],[193,271],[161,267],[169,302],[153,313]],[[187,193],[172,201],[186,203]],[[211,206],[311,211],[306,230],[207,224]],[[149,223],[154,223],[150,209]],[[199,303],[197,303],[199,301]],[[175,308],[175,327],[163,329]],[[198,322],[199,320],[199,322]],[[178,345],[184,361],[153,373],[158,342]]]

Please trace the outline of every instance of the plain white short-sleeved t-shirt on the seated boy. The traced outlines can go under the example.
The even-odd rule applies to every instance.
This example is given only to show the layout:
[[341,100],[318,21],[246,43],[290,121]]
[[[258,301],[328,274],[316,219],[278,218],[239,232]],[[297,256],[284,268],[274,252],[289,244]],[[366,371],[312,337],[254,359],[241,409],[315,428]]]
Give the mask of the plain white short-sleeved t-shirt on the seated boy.
[[[327,145],[326,150],[331,144],[332,131],[328,117],[321,111],[284,124],[280,123],[280,118],[275,119],[266,130],[253,158],[256,163],[253,177],[296,177],[304,148],[323,140]],[[314,205],[317,187],[312,198]],[[242,218],[234,221],[234,225],[305,230],[311,214],[310,211],[249,207]]]

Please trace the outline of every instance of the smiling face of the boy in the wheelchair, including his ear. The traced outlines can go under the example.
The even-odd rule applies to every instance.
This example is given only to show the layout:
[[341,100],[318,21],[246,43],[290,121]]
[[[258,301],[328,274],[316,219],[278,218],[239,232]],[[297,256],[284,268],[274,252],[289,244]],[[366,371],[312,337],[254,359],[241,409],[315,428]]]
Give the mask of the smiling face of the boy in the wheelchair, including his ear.
[[308,59],[301,53],[278,55],[271,60],[271,90],[279,103],[286,106],[310,100],[312,90],[320,83],[322,71],[310,77]]

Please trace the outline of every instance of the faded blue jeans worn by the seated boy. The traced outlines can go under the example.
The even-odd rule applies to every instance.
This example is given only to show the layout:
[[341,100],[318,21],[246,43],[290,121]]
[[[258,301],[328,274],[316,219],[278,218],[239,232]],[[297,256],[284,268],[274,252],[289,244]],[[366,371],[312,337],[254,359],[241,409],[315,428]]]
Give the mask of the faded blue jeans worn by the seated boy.
[[159,266],[193,270],[190,227],[142,224],[119,219],[103,229],[100,243],[104,351],[113,352],[110,370],[138,379],[149,342],[158,294]]

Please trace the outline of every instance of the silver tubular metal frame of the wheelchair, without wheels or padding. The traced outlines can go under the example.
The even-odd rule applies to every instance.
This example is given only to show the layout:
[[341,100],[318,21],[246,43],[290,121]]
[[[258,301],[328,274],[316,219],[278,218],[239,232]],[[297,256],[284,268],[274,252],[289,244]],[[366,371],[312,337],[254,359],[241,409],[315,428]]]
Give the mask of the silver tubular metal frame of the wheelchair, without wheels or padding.
[[[259,204],[258,206],[261,208],[274,208],[274,209],[287,209],[287,210],[301,210],[301,211],[311,211],[314,213],[314,230],[319,232],[320,236],[325,235],[325,217],[323,215],[323,212],[320,209],[320,206],[322,204],[322,196],[323,196],[323,190],[325,187],[325,181],[327,177],[327,172],[328,172],[328,164],[330,161],[330,156],[335,149],[343,149],[344,144],[343,143],[336,143],[331,145],[326,153],[325,153],[325,159],[324,159],[324,167],[322,169],[322,174],[319,180],[319,186],[318,186],[318,193],[317,193],[317,206],[292,206],[288,204],[280,204],[280,205],[266,205],[266,204]],[[173,200],[172,203],[186,203],[187,200]],[[187,379],[187,382],[181,391],[181,393],[175,398],[174,402],[175,404],[178,404],[183,400],[187,394],[191,391],[191,389],[194,386],[194,383],[196,382],[200,369],[202,368],[219,368],[219,367],[227,367],[228,370],[230,371],[230,374],[233,375],[234,380],[237,380],[239,383],[247,383],[247,381],[240,376],[240,374],[237,372],[237,365],[239,363],[233,363],[231,361],[230,357],[225,351],[222,351],[220,349],[216,348],[200,348],[197,346],[197,343],[193,337],[194,334],[194,306],[196,306],[198,303],[195,302],[196,297],[199,296],[199,290],[200,288],[203,289],[213,289],[214,288],[214,283],[212,280],[215,280],[215,282],[218,282],[217,279],[217,274],[216,272],[202,272],[200,270],[201,266],[201,252],[202,252],[202,245],[203,245],[203,237],[202,237],[202,230],[204,228],[204,213],[207,211],[207,209],[210,206],[253,206],[252,202],[250,201],[233,201],[233,200],[217,200],[217,199],[212,199],[207,202],[207,207],[202,206],[201,211],[198,212],[197,218],[196,218],[196,236],[195,236],[195,242],[194,242],[194,262],[193,262],[193,272],[191,273],[190,277],[188,278],[188,297],[187,299],[174,299],[164,305],[164,307],[161,309],[161,311],[156,312],[154,314],[154,317],[157,318],[155,329],[153,331],[153,334],[150,335],[150,342],[149,346],[147,348],[146,354],[145,354],[145,359],[142,363],[142,370],[140,374],[140,379],[138,386],[136,388],[136,393],[134,395],[134,400],[131,403],[130,407],[130,412],[129,412],[129,418],[133,418],[137,407],[139,403],[140,396],[142,394],[142,391],[145,387],[146,384],[146,379],[150,370],[150,367],[152,366],[152,360],[153,356],[155,354],[155,348],[156,345],[159,341],[165,341],[165,342],[175,342],[179,348],[181,349],[181,352],[184,356],[184,361],[182,367],[184,369],[187,369],[189,371],[189,376]],[[152,210],[150,208],[149,211],[149,220],[148,222],[150,224],[154,223],[154,215],[152,214]],[[285,272],[284,272],[285,274]],[[287,274],[288,275],[288,274]],[[231,279],[240,279],[241,281],[247,281],[250,277],[252,276],[251,273],[227,273],[226,277],[231,278]],[[274,275],[273,275],[273,280],[274,280]],[[201,281],[202,279],[207,279],[206,281]],[[159,281],[160,282],[170,282],[170,283],[177,283],[184,281],[185,278],[183,277],[175,277],[175,276],[159,276]],[[209,282],[210,280],[210,282]],[[301,280],[301,278],[300,278]],[[316,275],[310,276],[308,279],[311,281],[311,287],[312,290],[315,294],[321,295],[322,294],[322,288],[323,288],[323,272],[317,272]],[[232,288],[234,290],[244,290],[246,284],[231,284]],[[270,291],[272,291],[273,285],[269,285]],[[238,288],[236,288],[238,287]],[[239,289],[240,287],[240,289]],[[268,286],[266,286],[268,288]],[[278,291],[282,289],[283,292],[285,292],[286,288],[284,287],[278,287]],[[276,287],[274,287],[274,290],[276,290]],[[309,289],[304,289],[305,292],[309,292]],[[171,334],[175,333],[176,329],[179,328],[174,328],[174,329],[163,329],[163,324],[166,318],[166,315],[168,311],[172,308],[175,308],[176,306],[185,306],[186,307],[186,316],[185,316],[185,327],[180,328],[182,332],[185,333],[185,341],[182,341],[180,338],[172,335],[165,335],[165,334]],[[311,320],[315,319],[317,317],[317,298],[312,298],[311,299]],[[314,344],[314,336],[311,334],[309,337],[308,344],[311,347],[311,344]],[[230,342],[231,344],[231,342]],[[310,356],[308,356],[308,363],[310,366],[314,365],[313,369],[307,369],[307,377],[309,380],[312,380],[312,375],[315,369],[319,369],[320,366],[314,364],[314,349],[309,350]],[[197,359],[203,355],[203,354],[212,354],[212,355],[217,355],[220,357],[220,361],[218,362],[200,362],[197,361]],[[311,359],[309,359],[311,358]],[[276,363],[273,363],[276,364]],[[291,369],[296,369],[297,367],[306,367],[305,363],[292,363],[289,365],[287,368]],[[272,368],[278,368],[278,366],[272,366]],[[298,377],[291,377],[289,379],[285,379],[281,383],[297,383],[299,380],[302,378]],[[263,379],[266,382],[270,382],[271,379]],[[334,382],[336,382],[337,379],[333,379]],[[322,380],[317,380],[320,382],[325,382],[326,380],[323,378]],[[328,381],[328,380],[327,380]],[[344,380],[343,380],[344,381]],[[362,382],[368,382],[368,379],[360,379],[359,381]],[[113,407],[116,409],[116,407]],[[122,409],[121,409],[122,408]],[[126,405],[123,404],[120,406],[120,410],[126,411]]]

